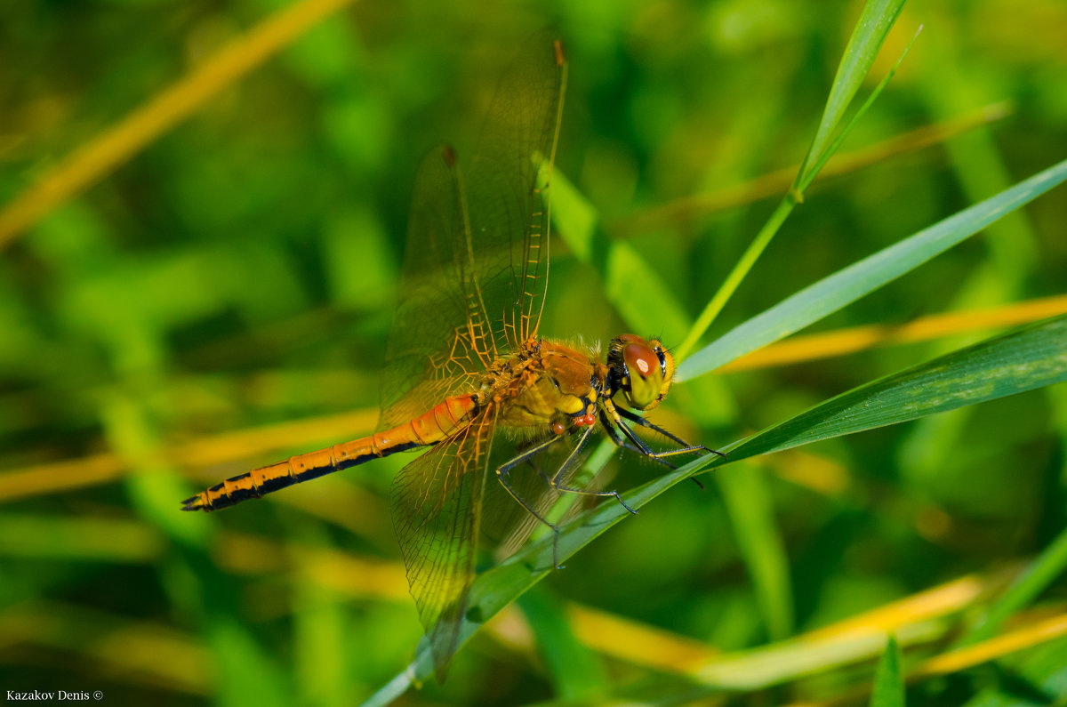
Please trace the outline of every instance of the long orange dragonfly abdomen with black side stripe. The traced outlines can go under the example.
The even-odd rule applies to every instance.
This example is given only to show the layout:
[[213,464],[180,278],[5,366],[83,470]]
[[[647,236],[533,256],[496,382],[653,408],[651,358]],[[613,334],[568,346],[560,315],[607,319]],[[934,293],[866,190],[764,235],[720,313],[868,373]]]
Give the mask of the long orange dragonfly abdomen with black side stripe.
[[182,510],[219,510],[258,499],[300,482],[318,478],[335,471],[349,469],[364,461],[404,452],[417,446],[436,444],[456,430],[465,427],[474,414],[477,402],[472,395],[445,398],[429,411],[385,431],[361,437],[344,444],[308,452],[266,467],[227,478],[211,488],[182,501]]

